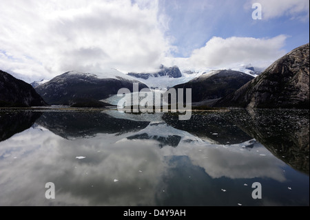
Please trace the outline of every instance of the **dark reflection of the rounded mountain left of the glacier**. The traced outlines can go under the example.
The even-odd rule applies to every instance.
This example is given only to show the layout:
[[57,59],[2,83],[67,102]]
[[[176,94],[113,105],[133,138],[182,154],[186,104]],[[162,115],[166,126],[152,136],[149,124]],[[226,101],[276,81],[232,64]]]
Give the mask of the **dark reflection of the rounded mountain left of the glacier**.
[[99,111],[44,112],[36,122],[65,139],[93,137],[98,133],[136,132],[149,124],[147,121],[115,119]]

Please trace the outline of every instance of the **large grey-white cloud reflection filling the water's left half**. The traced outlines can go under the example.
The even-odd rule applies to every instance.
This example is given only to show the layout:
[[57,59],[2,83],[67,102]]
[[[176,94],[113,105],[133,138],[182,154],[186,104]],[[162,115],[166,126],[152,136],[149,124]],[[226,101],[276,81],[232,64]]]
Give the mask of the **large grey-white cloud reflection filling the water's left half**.
[[[158,148],[152,142],[109,143],[104,137],[69,141],[30,129],[4,141],[1,150],[19,148],[0,160],[1,205],[154,205],[164,172]],[[76,159],[81,155],[85,159]],[[49,181],[56,186],[53,201],[44,197]]]

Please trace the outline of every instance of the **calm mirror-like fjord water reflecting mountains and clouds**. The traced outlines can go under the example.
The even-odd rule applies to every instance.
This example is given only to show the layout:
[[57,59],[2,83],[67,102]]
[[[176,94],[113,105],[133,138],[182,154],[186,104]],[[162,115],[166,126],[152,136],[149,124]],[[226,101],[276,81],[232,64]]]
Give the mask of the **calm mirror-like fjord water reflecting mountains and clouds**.
[[2,109],[0,206],[309,206],[309,110]]

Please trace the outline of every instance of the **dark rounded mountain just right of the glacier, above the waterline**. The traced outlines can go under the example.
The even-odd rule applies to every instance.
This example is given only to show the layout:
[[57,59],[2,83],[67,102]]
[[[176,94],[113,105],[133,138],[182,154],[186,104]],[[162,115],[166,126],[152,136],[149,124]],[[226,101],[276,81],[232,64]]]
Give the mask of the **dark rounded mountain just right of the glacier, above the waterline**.
[[[216,74],[203,74],[187,83],[174,86],[178,88],[192,88],[192,101],[199,102],[210,99],[220,99],[236,91],[254,77],[244,72],[234,70],[217,70]],[[183,90],[186,92],[186,90]],[[185,94],[183,97],[186,97]]]

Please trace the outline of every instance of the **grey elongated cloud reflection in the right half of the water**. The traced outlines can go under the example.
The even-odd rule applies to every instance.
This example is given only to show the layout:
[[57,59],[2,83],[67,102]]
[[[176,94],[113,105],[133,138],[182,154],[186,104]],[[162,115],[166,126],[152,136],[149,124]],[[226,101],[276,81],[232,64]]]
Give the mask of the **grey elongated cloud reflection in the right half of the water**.
[[257,144],[251,150],[245,145],[179,145],[178,148],[163,148],[165,154],[187,155],[193,165],[204,168],[212,178],[228,177],[230,179],[268,177],[276,181],[285,181],[280,166],[285,163],[273,157],[265,147]]

